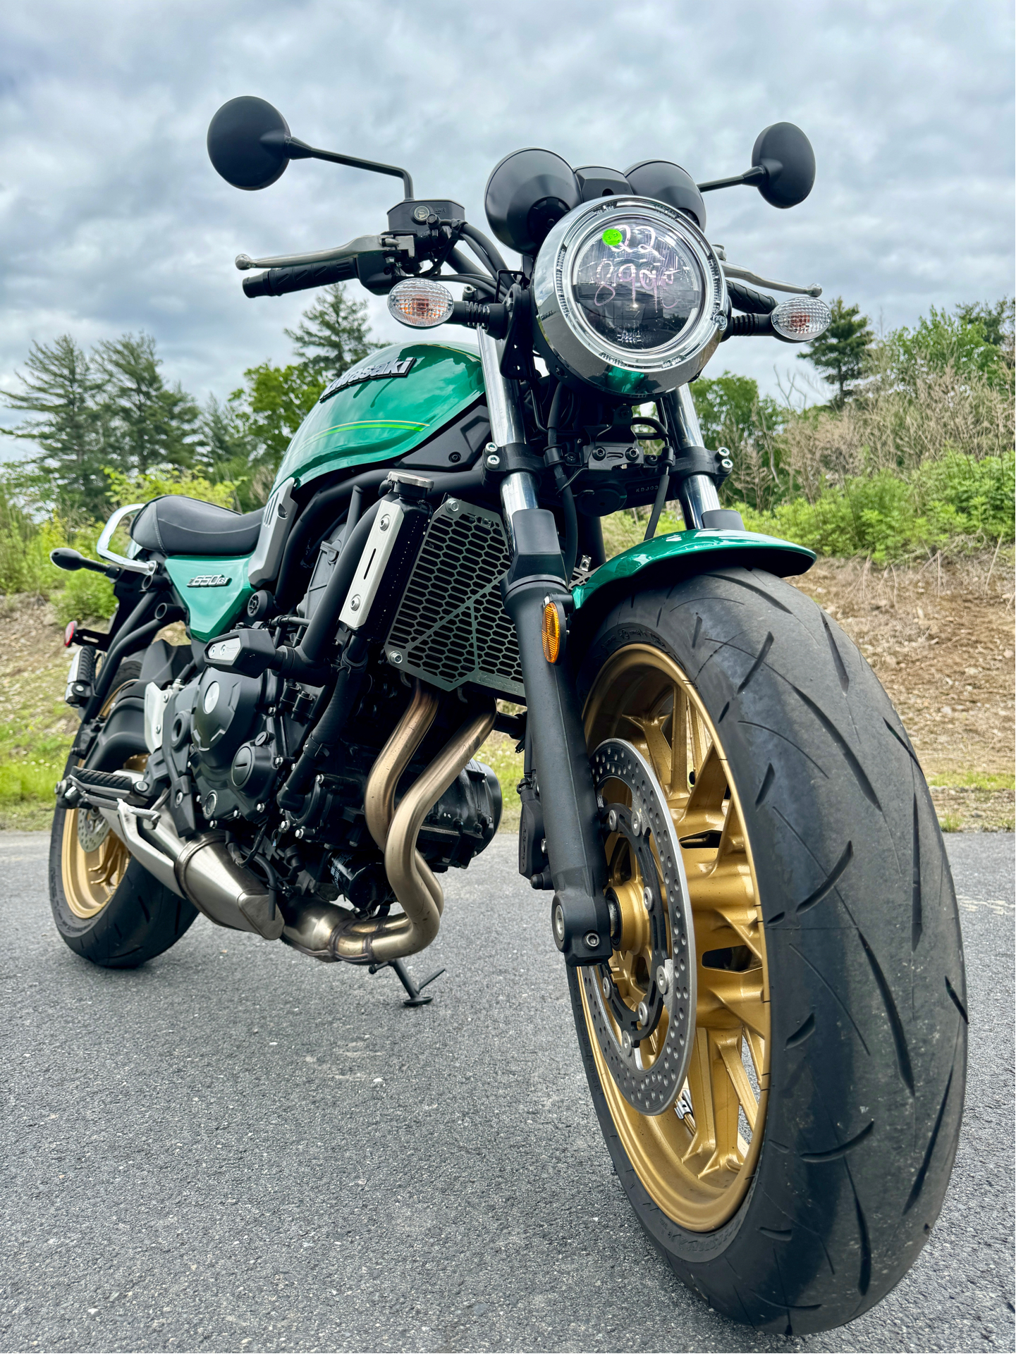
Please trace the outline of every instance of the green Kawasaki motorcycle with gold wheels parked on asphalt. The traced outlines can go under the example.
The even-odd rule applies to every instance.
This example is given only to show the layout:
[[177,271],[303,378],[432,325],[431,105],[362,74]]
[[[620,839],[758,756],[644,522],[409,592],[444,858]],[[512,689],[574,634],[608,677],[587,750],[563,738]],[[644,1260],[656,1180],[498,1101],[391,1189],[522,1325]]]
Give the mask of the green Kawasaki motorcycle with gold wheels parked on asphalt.
[[[906,731],[784,582],[811,552],[721,506],[733,463],[692,398],[721,344],[829,324],[821,288],[706,237],[707,191],[803,200],[807,138],[776,123],[746,172],[703,184],[509,154],[485,210],[515,268],[458,203],[309,146],[260,99],[226,103],[207,145],[248,191],[299,158],[402,180],[378,234],[241,255],[248,297],[359,280],[410,329],[471,334],[410,334],[332,380],[263,512],[161,497],[112,515],[99,561],[54,551],[118,597],[108,634],[69,627],[60,934],[133,968],[200,913],[431,1001],[405,960],[438,934],[439,876],[497,831],[474,754],[500,730],[524,751],[519,871],[547,895],[642,1227],[736,1322],[849,1322],[939,1215],[967,1013]],[[684,529],[657,535],[671,502]],[[608,561],[622,506],[649,508],[645,540]],[[160,636],[172,621],[188,642]]]

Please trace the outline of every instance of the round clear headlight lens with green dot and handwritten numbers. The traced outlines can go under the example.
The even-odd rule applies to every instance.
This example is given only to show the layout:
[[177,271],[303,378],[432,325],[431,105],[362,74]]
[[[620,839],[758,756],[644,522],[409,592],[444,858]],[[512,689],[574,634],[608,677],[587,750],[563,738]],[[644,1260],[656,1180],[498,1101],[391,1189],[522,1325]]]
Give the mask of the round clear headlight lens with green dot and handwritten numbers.
[[665,348],[702,310],[702,269],[658,219],[616,217],[576,252],[572,287],[583,320],[622,352]]

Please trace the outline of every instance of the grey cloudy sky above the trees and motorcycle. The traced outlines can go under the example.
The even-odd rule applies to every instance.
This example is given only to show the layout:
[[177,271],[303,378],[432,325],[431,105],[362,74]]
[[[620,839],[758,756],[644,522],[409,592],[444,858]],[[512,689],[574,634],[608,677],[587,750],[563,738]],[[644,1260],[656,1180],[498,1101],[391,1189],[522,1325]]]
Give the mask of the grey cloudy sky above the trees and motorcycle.
[[[238,93],[293,133],[406,165],[417,196],[484,226],[496,161],[748,167],[790,121],[818,162],[776,211],[708,195],[711,240],[768,276],[820,282],[891,328],[1013,290],[1009,0],[34,0],[0,18],[0,391],[30,340],[144,329],[167,375],[226,394],[287,360],[308,297],[247,301],[238,252],[317,249],[383,229],[391,179],[291,164],[264,192],[211,169],[205,133]],[[364,294],[366,295],[366,294]],[[375,332],[405,330],[373,302]],[[398,332],[397,332],[398,330]],[[772,340],[722,366],[774,389]],[[11,422],[14,416],[0,413]]]

